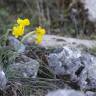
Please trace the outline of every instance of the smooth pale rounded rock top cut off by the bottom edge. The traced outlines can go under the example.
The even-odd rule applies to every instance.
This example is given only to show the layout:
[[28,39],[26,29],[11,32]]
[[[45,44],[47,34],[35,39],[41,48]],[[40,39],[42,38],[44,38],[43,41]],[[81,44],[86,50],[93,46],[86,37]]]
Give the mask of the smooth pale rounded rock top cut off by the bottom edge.
[[49,92],[46,96],[85,96],[84,93],[75,90],[59,89]]

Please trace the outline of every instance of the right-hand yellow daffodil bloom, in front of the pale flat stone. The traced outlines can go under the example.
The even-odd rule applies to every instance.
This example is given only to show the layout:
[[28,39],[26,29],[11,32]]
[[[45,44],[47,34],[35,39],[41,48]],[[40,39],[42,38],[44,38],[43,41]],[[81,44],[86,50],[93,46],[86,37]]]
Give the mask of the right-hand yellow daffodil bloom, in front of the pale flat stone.
[[40,44],[43,40],[43,36],[45,35],[46,31],[41,26],[37,27],[35,30],[36,33],[36,43]]

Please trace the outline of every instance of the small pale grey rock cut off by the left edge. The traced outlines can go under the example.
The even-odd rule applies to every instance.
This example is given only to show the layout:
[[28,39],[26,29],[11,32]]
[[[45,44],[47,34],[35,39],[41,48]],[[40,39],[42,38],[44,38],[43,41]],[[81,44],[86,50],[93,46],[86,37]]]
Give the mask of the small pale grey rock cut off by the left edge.
[[7,84],[7,79],[6,79],[6,76],[5,76],[5,73],[4,71],[0,68],[0,89],[5,89],[6,87],[6,84]]

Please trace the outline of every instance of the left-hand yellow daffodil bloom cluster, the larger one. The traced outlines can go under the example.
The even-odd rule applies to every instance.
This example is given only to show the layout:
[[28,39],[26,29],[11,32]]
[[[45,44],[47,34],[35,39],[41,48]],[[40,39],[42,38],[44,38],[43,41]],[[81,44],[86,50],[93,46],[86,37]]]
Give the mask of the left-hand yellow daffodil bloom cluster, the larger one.
[[16,38],[18,38],[19,36],[24,35],[24,28],[25,26],[29,25],[30,21],[29,19],[17,19],[17,25],[13,26],[12,28],[12,35],[14,35]]

